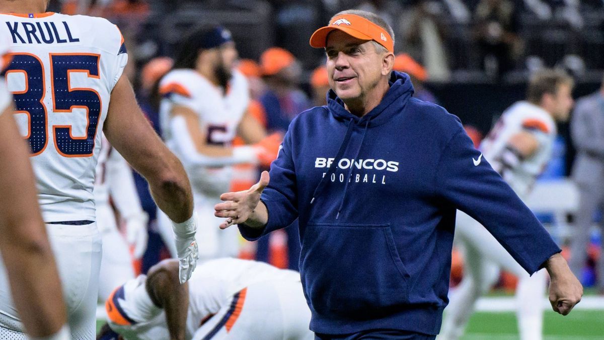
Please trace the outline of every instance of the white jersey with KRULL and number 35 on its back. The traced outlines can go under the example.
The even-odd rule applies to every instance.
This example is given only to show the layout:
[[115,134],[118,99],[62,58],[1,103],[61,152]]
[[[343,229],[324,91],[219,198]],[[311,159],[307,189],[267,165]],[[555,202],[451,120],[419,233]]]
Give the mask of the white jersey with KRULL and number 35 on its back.
[[90,16],[2,14],[6,80],[31,147],[45,221],[95,220],[94,168],[109,99],[127,62],[120,30]]

